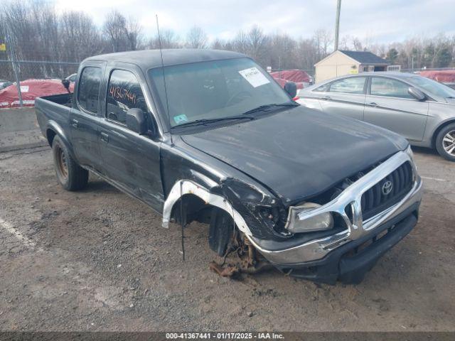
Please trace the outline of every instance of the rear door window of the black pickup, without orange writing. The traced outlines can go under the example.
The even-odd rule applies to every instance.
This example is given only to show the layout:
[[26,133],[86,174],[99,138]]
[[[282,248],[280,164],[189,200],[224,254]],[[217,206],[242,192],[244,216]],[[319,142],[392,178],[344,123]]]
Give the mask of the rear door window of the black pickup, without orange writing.
[[100,67],[87,66],[82,70],[77,90],[77,102],[82,109],[92,114],[97,114],[98,112],[100,83]]

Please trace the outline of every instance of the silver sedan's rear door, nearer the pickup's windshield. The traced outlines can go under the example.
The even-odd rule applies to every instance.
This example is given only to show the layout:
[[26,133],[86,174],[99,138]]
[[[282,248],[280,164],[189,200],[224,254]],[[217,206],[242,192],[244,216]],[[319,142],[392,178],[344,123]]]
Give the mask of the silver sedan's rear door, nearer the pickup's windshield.
[[319,101],[324,112],[363,120],[368,77],[355,76],[334,80],[321,87]]

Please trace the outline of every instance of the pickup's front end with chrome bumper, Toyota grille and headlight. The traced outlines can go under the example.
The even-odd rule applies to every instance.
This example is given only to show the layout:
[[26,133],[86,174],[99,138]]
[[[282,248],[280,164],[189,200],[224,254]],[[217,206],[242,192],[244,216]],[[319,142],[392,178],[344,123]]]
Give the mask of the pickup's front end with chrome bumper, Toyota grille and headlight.
[[288,210],[288,239],[247,236],[277,269],[321,283],[359,283],[417,224],[422,180],[410,148]]

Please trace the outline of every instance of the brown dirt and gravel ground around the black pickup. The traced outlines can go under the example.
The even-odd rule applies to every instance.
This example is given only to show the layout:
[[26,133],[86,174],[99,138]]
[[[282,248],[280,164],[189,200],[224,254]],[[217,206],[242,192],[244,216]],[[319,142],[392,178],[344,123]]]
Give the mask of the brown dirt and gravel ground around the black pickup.
[[417,150],[417,227],[357,286],[270,271],[220,278],[208,227],[161,217],[90,175],[65,192],[50,148],[0,153],[0,330],[455,330],[455,163]]

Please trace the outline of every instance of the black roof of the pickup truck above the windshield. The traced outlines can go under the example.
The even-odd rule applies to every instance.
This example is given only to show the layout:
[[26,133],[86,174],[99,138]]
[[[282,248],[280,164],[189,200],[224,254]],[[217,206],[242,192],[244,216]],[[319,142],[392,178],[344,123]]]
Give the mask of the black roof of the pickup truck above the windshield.
[[[233,51],[201,50],[193,48],[163,49],[162,52],[164,66],[246,57],[242,53]],[[84,62],[95,60],[134,63],[144,70],[153,67],[161,67],[160,50],[140,50],[95,55],[85,59]]]

